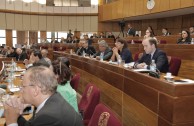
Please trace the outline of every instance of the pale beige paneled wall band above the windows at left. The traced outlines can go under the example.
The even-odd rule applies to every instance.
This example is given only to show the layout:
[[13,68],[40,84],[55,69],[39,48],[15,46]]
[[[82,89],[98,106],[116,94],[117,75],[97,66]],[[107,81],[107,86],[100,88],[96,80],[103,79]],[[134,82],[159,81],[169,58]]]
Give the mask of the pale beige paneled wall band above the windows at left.
[[0,13],[0,29],[32,31],[98,31],[98,16],[42,16]]

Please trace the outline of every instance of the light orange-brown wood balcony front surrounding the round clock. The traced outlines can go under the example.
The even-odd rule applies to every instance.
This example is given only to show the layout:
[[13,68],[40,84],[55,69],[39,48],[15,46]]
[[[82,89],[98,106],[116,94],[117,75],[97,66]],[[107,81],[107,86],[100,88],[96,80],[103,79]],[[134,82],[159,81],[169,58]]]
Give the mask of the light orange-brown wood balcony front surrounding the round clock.
[[[118,0],[110,4],[100,5],[103,8],[100,21],[153,14],[194,6],[193,0],[155,0],[155,7],[147,9],[147,0]],[[101,8],[101,7],[100,7]]]

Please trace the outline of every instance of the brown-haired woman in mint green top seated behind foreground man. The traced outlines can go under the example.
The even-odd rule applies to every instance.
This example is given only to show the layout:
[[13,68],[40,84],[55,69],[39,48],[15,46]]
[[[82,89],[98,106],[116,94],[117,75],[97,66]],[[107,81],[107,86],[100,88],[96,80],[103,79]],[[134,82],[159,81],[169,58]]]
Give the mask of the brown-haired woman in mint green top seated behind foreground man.
[[53,63],[53,72],[57,76],[58,86],[57,92],[78,112],[77,94],[70,85],[71,71],[61,62]]

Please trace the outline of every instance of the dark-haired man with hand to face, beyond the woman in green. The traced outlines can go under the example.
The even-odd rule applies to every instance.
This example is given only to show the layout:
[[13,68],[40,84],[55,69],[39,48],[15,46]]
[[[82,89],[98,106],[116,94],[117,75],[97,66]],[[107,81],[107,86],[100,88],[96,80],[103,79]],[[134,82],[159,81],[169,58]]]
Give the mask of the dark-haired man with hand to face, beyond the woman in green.
[[39,50],[34,50],[31,52],[30,59],[24,61],[25,66],[29,68],[30,66],[43,66],[49,67],[50,64],[42,57],[42,54]]

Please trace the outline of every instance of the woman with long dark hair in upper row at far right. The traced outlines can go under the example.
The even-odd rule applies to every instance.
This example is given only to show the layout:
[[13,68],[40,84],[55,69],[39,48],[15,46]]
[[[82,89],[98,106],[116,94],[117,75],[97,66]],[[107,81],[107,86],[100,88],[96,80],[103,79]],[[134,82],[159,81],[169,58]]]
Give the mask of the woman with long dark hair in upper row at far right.
[[191,37],[189,31],[182,31],[181,38],[178,39],[177,44],[191,44]]

